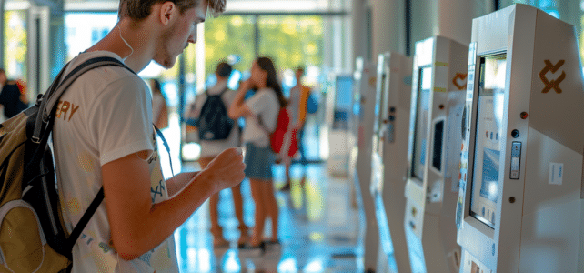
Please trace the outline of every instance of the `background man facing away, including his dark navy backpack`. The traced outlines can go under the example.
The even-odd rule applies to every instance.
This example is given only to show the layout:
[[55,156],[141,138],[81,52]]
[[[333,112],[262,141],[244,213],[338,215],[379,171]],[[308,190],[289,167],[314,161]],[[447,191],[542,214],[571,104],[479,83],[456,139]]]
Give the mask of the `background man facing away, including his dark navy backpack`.
[[[196,96],[191,109],[191,118],[198,122],[199,144],[201,156],[198,159],[201,168],[205,168],[213,159],[225,149],[239,146],[239,127],[237,121],[227,116],[227,109],[233,102],[237,92],[230,90],[227,81],[233,68],[226,62],[216,66],[216,85],[207,89],[205,93]],[[241,187],[231,188],[233,203],[236,208],[236,217],[239,221],[240,236],[238,246],[247,242],[247,226],[243,218],[243,199]],[[211,217],[211,234],[214,248],[227,248],[229,242],[223,237],[223,229],[219,226],[217,206],[219,193],[209,198],[209,215]]]

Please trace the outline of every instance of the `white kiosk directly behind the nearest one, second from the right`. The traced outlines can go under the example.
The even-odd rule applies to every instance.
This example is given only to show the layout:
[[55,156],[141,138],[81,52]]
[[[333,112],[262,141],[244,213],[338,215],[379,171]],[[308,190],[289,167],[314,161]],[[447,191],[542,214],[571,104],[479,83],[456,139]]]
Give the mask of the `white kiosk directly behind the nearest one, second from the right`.
[[408,145],[406,239],[412,272],[457,272],[460,127],[468,46],[442,36],[416,43]]

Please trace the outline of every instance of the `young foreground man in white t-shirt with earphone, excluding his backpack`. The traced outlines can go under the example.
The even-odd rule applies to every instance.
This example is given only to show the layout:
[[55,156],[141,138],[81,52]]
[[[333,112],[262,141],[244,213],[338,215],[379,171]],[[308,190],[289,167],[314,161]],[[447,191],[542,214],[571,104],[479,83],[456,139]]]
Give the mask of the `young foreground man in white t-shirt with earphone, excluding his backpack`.
[[[96,56],[139,72],[170,68],[206,11],[225,0],[121,0],[119,21],[67,67]],[[65,71],[65,73],[68,73]],[[173,233],[206,198],[244,178],[241,152],[227,149],[198,173],[162,177],[146,83],[126,68],[80,76],[61,97],[53,131],[65,224],[71,231],[103,186],[105,199],[73,248],[73,272],[178,272]]]

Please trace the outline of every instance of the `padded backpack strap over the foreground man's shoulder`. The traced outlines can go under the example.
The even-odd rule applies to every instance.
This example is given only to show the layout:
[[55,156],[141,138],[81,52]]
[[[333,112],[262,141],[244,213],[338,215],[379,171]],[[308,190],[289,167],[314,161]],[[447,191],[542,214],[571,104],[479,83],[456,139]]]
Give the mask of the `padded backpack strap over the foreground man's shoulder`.
[[79,76],[99,66],[121,66],[136,74],[136,72],[127,67],[124,63],[120,62],[118,59],[108,56],[101,56],[86,60],[81,65],[76,66],[76,68],[74,68],[69,74],[67,74],[67,76],[65,76],[63,80],[61,80],[61,77],[63,77],[63,73],[67,66],[63,67],[59,73],[59,76],[57,76],[53,84],[49,87],[49,90],[41,98],[39,108],[39,114],[41,115],[36,116],[35,130],[33,136],[31,137],[31,140],[35,143],[40,143],[41,135],[44,133],[43,129],[49,123],[49,119],[52,116],[53,111],[55,111],[55,106],[58,100],[61,98],[61,96],[63,96],[65,90],[71,86],[71,84],[73,84],[73,82]]

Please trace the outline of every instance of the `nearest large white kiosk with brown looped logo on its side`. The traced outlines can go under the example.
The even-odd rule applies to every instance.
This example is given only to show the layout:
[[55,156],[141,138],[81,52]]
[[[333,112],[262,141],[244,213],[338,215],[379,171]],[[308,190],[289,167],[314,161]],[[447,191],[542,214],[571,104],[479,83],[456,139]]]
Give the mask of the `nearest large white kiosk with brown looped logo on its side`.
[[473,20],[460,272],[583,272],[582,84],[572,25],[528,5]]

